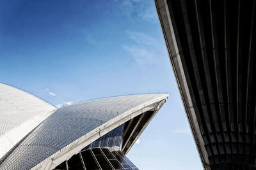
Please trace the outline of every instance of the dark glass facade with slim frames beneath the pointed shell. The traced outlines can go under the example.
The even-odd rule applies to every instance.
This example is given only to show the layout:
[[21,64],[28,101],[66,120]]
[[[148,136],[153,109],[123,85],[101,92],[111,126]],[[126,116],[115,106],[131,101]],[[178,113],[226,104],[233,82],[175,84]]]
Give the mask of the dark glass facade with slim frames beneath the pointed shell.
[[116,127],[55,169],[138,169],[120,151],[124,124]]

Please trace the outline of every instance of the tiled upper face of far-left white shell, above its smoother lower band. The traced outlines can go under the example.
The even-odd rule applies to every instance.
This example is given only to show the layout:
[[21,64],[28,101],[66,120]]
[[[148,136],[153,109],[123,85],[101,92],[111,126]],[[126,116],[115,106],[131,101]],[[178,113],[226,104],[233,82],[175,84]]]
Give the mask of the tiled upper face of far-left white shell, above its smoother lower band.
[[0,83],[0,136],[29,118],[56,110],[27,92]]

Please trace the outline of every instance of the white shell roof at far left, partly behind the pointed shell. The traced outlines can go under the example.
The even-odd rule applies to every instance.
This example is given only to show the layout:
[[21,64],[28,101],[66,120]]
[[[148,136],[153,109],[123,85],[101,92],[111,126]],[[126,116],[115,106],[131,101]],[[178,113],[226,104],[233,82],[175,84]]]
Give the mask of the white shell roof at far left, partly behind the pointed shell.
[[0,83],[0,158],[55,110],[38,97]]

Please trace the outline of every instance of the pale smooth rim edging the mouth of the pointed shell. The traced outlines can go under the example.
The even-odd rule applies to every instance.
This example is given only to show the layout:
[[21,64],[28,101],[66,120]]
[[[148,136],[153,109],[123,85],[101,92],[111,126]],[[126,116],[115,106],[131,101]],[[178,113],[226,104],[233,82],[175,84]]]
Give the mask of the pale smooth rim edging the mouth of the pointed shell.
[[[98,138],[100,138],[104,134],[108,133],[109,131],[112,131],[119,125],[124,124],[128,120],[131,120],[132,118],[134,118],[142,113],[145,113],[145,111],[152,110],[154,108],[156,108],[156,111],[154,113],[154,115],[156,115],[157,111],[166,102],[166,99],[168,98],[168,96],[169,96],[168,94],[163,94],[163,96],[161,96],[161,97],[156,97],[150,101],[147,101],[146,103],[135,106],[131,110],[125,111],[121,115],[118,115],[117,117],[112,118],[108,122],[100,125],[99,127],[84,134],[83,136],[76,139],[75,141],[68,144],[67,146],[61,148],[61,150],[58,150],[58,152],[52,154],[50,157],[43,160],[42,162],[40,162],[36,166],[32,167],[31,169],[54,169],[54,167],[58,166],[63,161],[70,159],[73,155],[80,152],[85,146],[89,145],[90,143],[97,140]],[[150,118],[150,120],[152,120],[152,118]],[[147,125],[145,125],[145,127],[147,127]],[[141,132],[145,129],[145,127],[143,127],[143,129],[141,129]],[[138,134],[136,139],[138,139],[141,132]],[[135,143],[135,141],[132,142],[132,145],[134,143]]]

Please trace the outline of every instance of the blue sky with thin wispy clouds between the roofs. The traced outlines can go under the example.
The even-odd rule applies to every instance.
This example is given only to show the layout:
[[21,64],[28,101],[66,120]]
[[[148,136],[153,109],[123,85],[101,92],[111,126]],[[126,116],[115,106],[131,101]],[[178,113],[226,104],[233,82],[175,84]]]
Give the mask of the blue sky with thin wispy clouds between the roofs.
[[153,0],[0,1],[0,82],[57,107],[125,94],[169,98],[127,157],[202,169]]

